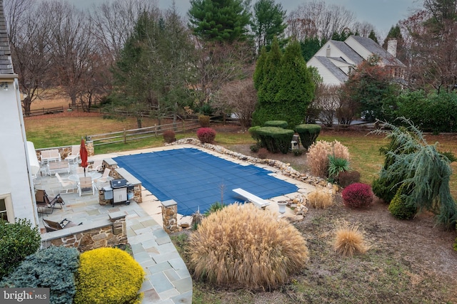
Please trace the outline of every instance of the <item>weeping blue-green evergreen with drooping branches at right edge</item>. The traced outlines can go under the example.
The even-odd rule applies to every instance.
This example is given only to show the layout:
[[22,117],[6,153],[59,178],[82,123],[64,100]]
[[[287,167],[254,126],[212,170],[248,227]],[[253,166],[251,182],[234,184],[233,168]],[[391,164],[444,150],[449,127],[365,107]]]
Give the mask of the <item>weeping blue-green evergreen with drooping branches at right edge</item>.
[[390,147],[394,148],[386,152],[391,164],[381,169],[380,180],[388,180],[388,177],[401,180],[401,184],[412,189],[405,194],[406,204],[416,206],[419,212],[433,212],[436,214],[436,224],[455,226],[457,205],[449,188],[451,161],[438,152],[437,143],[428,145],[421,130],[410,120],[405,117],[399,120],[406,127],[386,123],[389,129],[386,138],[391,140]]

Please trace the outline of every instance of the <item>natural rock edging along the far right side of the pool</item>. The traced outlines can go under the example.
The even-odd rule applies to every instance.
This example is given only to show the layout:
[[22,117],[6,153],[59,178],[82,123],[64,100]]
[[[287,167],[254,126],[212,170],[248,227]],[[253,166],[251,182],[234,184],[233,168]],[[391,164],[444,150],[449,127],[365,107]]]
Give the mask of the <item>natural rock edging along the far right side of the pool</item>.
[[205,149],[212,150],[214,152],[218,152],[218,153],[221,153],[224,155],[228,155],[228,156],[236,158],[236,159],[241,159],[245,162],[250,162],[251,164],[266,164],[270,167],[279,169],[279,172],[281,172],[281,174],[283,174],[286,177],[291,177],[300,182],[305,182],[306,184],[311,184],[315,187],[328,187],[330,184],[325,179],[321,179],[321,177],[314,177],[307,173],[300,173],[296,169],[293,169],[292,167],[290,167],[289,164],[285,164],[279,160],[260,159],[260,158],[256,158],[256,157],[247,156],[245,154],[231,151],[231,150],[221,147],[219,145],[212,145],[212,144],[207,144],[207,143],[202,144],[200,142],[200,140],[198,140],[196,138],[192,138],[192,137],[184,138],[181,140],[176,140],[175,142],[172,142],[171,144],[165,144],[165,145],[196,145],[198,147],[203,147]]

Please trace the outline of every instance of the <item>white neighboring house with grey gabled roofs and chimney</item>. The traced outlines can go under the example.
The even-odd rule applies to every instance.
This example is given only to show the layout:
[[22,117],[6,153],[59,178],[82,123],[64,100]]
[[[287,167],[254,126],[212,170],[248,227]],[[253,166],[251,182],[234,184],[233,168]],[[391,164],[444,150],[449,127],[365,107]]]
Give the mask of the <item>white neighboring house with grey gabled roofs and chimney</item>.
[[379,65],[391,71],[393,78],[403,78],[406,65],[396,58],[396,40],[388,41],[388,50],[361,36],[349,36],[346,41],[330,40],[306,65],[317,68],[325,85],[342,85],[357,65],[376,55]]

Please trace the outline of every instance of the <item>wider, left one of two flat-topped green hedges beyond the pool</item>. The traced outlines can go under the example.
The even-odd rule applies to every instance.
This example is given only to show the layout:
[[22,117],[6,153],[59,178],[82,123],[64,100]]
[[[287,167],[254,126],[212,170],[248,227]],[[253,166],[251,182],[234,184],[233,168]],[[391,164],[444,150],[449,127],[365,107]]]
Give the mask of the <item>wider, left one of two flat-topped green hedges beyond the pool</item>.
[[261,146],[272,153],[287,154],[293,137],[293,130],[281,127],[259,127],[256,133],[261,140]]

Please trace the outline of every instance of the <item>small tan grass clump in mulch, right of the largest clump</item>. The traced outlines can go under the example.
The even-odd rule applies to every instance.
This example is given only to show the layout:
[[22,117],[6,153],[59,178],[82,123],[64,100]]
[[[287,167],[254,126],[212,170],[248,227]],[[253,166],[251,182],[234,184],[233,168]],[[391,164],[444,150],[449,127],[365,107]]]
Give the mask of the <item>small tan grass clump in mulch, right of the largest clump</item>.
[[341,221],[336,227],[333,248],[343,256],[353,256],[366,253],[369,247],[357,224],[351,225],[347,221]]

